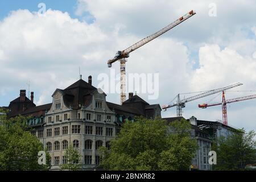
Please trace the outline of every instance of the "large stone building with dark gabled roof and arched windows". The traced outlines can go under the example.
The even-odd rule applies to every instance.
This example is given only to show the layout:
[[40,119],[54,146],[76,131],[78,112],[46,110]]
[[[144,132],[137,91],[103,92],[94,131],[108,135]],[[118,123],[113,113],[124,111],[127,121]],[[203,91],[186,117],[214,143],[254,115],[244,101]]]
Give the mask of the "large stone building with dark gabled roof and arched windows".
[[9,117],[31,117],[27,124],[51,155],[52,170],[67,163],[64,152],[69,145],[79,151],[82,168],[94,170],[100,163],[98,149],[110,149],[109,142],[119,133],[121,123],[139,115],[161,116],[159,105],[150,105],[132,93],[123,105],[106,102],[106,94],[92,86],[90,76],[88,82],[80,79],[66,89],[56,89],[50,104],[35,106],[33,100],[34,93],[28,99],[26,90],[20,90],[20,97],[10,102]]

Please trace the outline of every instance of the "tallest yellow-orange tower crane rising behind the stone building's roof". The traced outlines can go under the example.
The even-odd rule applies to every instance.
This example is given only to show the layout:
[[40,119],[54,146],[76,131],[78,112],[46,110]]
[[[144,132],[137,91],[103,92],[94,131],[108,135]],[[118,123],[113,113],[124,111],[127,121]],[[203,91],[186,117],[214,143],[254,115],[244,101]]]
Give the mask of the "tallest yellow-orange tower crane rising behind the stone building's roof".
[[147,44],[151,40],[154,40],[155,38],[158,38],[158,36],[163,35],[165,32],[171,30],[172,28],[176,27],[178,24],[184,22],[188,18],[191,18],[191,16],[195,15],[196,13],[191,10],[189,13],[185,14],[184,16],[181,16],[179,19],[175,20],[168,26],[162,28],[155,34],[152,34],[150,36],[147,36],[146,38],[140,40],[139,42],[133,44],[133,46],[128,47],[127,49],[123,51],[118,51],[115,55],[115,57],[111,60],[108,60],[108,67],[111,68],[112,64],[115,63],[115,61],[120,61],[120,87],[121,87],[121,104],[126,100],[126,77],[125,77],[125,64],[126,64],[126,58],[130,57],[130,53],[138,49],[139,47],[144,46],[144,44]]

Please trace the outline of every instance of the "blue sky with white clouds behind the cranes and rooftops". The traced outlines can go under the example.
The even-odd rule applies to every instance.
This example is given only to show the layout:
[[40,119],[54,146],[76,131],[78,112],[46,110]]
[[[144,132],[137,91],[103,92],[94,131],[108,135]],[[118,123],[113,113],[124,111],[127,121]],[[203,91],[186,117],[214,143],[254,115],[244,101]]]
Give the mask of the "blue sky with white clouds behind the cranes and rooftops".
[[[41,4],[40,4],[41,3]],[[42,13],[42,6],[46,12]],[[35,92],[35,104],[52,101],[52,93],[82,78],[109,76],[118,82],[119,64],[106,65],[115,52],[160,30],[180,16],[196,15],[130,54],[127,74],[159,75],[158,97],[132,90],[150,104],[166,105],[178,93],[221,88],[241,82],[226,98],[256,94],[256,2],[168,0],[0,1],[0,106],[19,97],[20,89]],[[114,77],[111,72],[115,71]],[[154,82],[155,85],[157,85]],[[117,85],[118,87],[118,85]],[[119,93],[107,100],[119,104]],[[196,93],[194,93],[196,94]],[[193,94],[181,94],[187,98]],[[198,104],[220,102],[216,94],[186,104],[183,116],[216,121],[221,106],[199,109]],[[228,105],[228,122],[256,130],[256,100]],[[162,112],[175,117],[176,108]]]

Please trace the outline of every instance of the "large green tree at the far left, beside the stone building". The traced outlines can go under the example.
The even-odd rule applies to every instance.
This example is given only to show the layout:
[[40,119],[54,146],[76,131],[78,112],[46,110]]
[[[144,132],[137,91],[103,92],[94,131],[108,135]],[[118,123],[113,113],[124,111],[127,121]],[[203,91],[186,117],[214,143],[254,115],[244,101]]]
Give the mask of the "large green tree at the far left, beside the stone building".
[[[3,111],[1,111],[3,112]],[[38,164],[38,152],[43,144],[33,136],[26,122],[28,118],[0,116],[0,170],[47,170]]]

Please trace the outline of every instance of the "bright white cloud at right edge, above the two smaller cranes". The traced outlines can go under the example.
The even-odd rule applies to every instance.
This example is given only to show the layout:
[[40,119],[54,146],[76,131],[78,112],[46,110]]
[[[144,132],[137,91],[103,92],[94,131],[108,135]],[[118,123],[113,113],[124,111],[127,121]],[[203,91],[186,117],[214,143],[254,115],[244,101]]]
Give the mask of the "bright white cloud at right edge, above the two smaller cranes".
[[242,82],[243,88],[256,88],[256,61],[251,57],[243,57],[235,50],[221,48],[218,45],[205,45],[199,50],[200,68],[196,69],[192,78],[192,86],[201,88],[229,83]]

